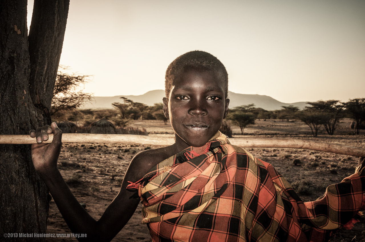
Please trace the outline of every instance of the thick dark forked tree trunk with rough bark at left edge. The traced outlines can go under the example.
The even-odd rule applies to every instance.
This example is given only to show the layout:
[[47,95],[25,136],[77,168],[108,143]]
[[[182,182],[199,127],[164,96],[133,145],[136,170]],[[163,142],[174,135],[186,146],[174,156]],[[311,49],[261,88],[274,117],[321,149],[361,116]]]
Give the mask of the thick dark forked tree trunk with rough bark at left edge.
[[[27,134],[50,123],[69,0],[35,0],[28,42],[27,0],[0,0],[0,133]],[[48,190],[29,145],[0,145],[0,235],[45,233]],[[29,239],[28,239],[29,240]],[[44,238],[32,238],[44,241]]]

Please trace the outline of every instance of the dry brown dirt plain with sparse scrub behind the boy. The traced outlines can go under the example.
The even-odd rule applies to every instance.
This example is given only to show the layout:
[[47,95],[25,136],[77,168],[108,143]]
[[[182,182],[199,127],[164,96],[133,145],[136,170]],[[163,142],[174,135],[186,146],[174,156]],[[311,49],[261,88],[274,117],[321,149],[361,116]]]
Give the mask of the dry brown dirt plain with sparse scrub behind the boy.
[[[313,137],[310,128],[300,121],[257,120],[244,130],[232,126],[234,138],[299,138],[332,144],[365,148],[365,130],[351,135],[350,120],[340,122],[335,134],[328,135],[321,129]],[[149,136],[173,137],[173,130],[163,121],[138,120],[130,124],[145,128]],[[64,143],[58,160],[58,168],[73,194],[95,219],[99,219],[105,208],[118,194],[124,172],[132,157],[147,148],[157,146]],[[351,175],[358,163],[358,157],[334,153],[288,148],[247,148],[254,156],[274,165],[306,202],[323,195],[326,187]],[[294,160],[296,160],[294,162]],[[352,230],[339,230],[333,241],[365,242],[365,216]],[[151,241],[146,225],[141,223],[141,204],[122,231],[113,241]],[[50,201],[47,233],[71,233],[58,211]],[[47,241],[77,241],[76,238],[49,238]]]

